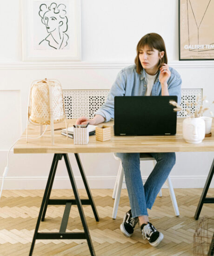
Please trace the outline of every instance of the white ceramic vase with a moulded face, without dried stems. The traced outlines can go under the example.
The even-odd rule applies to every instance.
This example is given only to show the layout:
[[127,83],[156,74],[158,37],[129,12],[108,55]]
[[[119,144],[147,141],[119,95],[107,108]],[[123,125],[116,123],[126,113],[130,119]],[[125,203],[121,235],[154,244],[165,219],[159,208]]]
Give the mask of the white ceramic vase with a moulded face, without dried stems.
[[205,137],[205,121],[201,117],[183,121],[183,138],[188,143],[200,143]]

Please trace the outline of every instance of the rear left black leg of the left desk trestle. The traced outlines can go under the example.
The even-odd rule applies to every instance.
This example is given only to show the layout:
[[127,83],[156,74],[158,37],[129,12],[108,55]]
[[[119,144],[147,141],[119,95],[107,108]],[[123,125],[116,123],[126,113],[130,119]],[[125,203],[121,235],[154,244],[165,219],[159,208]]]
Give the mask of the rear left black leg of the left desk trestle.
[[51,171],[50,171],[50,172],[52,172],[51,181],[50,181],[50,184],[49,184],[49,187],[48,187],[48,192],[47,192],[47,196],[46,196],[45,206],[44,206],[42,217],[41,217],[41,221],[42,222],[45,220],[45,215],[46,215],[46,211],[47,211],[47,205],[48,205],[48,201],[50,199],[51,190],[52,190],[53,183],[54,183],[54,177],[55,177],[55,174],[56,174],[57,165],[58,165],[59,160],[62,159],[62,154],[55,154],[54,157],[55,157],[55,161],[53,160],[52,165],[51,165]]

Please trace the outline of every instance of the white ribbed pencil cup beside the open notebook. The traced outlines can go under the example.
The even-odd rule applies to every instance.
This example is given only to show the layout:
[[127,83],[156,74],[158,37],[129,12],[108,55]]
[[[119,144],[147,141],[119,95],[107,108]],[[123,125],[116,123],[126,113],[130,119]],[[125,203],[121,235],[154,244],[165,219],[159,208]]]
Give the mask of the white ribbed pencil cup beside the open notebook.
[[74,144],[86,145],[89,141],[88,127],[78,125],[74,127]]

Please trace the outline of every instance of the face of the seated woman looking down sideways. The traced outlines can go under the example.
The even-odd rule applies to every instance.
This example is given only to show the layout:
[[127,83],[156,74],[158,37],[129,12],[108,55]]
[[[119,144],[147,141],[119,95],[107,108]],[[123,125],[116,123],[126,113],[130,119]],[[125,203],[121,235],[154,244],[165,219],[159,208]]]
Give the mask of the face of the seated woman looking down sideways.
[[160,60],[160,52],[156,49],[150,49],[148,46],[144,46],[139,50],[139,59],[144,69],[157,68]]

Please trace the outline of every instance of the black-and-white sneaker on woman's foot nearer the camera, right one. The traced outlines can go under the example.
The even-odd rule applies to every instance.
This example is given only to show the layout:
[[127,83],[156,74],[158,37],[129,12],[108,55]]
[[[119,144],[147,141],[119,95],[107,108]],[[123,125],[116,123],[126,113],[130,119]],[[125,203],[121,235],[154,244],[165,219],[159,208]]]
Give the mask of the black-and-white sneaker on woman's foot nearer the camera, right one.
[[142,224],[140,230],[142,231],[143,239],[148,239],[152,246],[157,246],[163,240],[163,234],[155,229],[150,222]]

